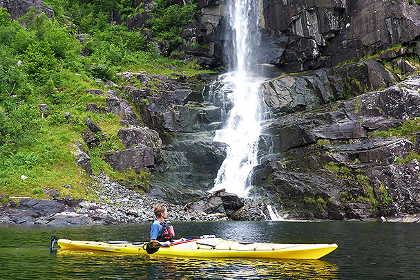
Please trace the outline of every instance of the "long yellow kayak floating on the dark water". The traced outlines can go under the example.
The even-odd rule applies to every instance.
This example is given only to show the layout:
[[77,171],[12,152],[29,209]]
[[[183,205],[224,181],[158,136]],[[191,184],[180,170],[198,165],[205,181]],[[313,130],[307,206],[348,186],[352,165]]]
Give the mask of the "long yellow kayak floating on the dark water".
[[[59,239],[61,250],[99,250],[126,254],[148,254],[151,243],[126,241],[96,242]],[[160,245],[158,245],[160,247]],[[156,248],[160,256],[187,256],[192,258],[240,258],[240,259],[319,259],[336,250],[336,244],[280,244],[241,243],[220,238],[187,239]],[[150,251],[149,251],[150,252]]]

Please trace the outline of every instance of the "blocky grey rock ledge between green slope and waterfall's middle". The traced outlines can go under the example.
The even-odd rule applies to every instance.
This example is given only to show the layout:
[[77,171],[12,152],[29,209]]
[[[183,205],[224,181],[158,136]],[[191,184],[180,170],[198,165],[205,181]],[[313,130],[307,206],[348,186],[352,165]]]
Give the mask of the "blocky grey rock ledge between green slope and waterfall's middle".
[[[125,77],[135,77],[146,85],[158,82],[158,77],[146,73],[126,73]],[[159,80],[158,89],[125,88],[149,127],[156,131],[195,132],[214,129],[214,122],[220,122],[220,109],[203,102],[202,93],[193,84],[168,77]]]

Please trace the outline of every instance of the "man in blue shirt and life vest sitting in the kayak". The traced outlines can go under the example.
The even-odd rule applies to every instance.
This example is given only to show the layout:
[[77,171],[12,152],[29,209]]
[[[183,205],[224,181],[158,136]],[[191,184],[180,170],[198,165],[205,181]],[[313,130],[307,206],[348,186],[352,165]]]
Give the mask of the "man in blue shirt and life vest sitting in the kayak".
[[171,242],[184,241],[184,237],[178,240],[173,240],[175,237],[175,231],[173,226],[165,223],[166,218],[168,218],[168,209],[166,204],[158,203],[153,209],[155,214],[155,221],[150,227],[150,241],[158,242],[161,245],[170,244]]

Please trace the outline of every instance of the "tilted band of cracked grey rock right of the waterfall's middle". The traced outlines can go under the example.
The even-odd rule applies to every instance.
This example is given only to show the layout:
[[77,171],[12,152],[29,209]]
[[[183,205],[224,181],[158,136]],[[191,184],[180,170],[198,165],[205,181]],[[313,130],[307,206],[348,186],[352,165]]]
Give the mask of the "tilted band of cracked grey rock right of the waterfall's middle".
[[395,84],[391,73],[374,60],[285,75],[264,82],[260,94],[275,115],[318,109],[336,100]]

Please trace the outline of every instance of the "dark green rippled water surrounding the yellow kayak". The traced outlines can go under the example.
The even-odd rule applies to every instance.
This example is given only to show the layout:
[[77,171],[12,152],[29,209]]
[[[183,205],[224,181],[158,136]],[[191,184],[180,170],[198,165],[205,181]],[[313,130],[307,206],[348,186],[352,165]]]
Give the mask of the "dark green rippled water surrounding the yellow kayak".
[[[338,243],[316,261],[182,259],[128,254],[50,254],[50,236],[146,241],[149,224],[0,226],[0,279],[419,279],[420,224],[344,222],[174,223],[178,237],[216,234],[238,241]],[[56,245],[57,246],[57,245]]]

